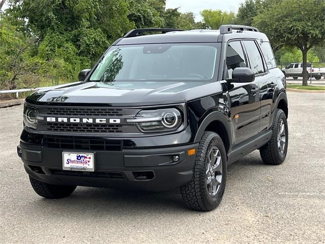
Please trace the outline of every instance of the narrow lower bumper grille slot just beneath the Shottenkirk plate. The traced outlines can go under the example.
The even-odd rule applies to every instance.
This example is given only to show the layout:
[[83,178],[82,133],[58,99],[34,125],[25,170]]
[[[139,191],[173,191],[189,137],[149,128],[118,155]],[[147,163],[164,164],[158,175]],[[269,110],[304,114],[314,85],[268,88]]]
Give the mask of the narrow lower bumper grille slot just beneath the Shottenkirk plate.
[[93,178],[110,178],[123,179],[124,175],[121,172],[88,172],[88,171],[68,171],[62,169],[49,169],[55,175],[67,175],[78,177],[93,177]]

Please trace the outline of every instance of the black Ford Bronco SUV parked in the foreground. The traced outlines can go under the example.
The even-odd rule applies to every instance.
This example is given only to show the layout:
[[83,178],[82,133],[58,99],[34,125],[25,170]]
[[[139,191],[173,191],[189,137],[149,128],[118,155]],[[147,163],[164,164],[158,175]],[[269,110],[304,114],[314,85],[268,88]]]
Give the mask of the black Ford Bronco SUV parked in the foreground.
[[209,211],[228,164],[255,149],[266,164],[286,157],[285,79],[254,27],[135,29],[79,80],[24,104],[17,151],[43,197],[180,187],[189,208]]

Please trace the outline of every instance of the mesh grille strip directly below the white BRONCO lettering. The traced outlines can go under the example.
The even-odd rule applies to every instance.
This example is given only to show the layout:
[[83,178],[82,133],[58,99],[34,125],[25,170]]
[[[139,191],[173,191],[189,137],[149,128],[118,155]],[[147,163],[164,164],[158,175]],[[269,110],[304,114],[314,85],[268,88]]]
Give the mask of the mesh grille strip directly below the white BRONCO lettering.
[[47,131],[112,133],[123,132],[122,125],[47,123]]

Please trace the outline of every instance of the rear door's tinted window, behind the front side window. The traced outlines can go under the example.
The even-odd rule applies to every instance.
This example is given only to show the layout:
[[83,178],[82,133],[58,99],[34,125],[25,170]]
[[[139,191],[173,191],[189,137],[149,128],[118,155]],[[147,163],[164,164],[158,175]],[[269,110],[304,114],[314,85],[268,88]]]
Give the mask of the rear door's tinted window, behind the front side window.
[[254,41],[244,41],[245,49],[247,52],[250,68],[255,75],[264,73],[264,65],[261,54],[259,54],[258,48]]

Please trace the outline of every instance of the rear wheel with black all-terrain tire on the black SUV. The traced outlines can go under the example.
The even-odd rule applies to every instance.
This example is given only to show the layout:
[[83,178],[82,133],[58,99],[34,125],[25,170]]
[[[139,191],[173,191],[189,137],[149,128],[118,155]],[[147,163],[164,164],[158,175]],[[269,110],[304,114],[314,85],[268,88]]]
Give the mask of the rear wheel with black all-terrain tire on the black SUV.
[[[285,130],[285,135],[279,135],[281,130],[281,121],[283,121],[283,129]],[[288,123],[286,120],[285,113],[281,109],[277,109],[274,123],[272,126],[272,138],[268,144],[259,148],[259,154],[265,164],[279,165],[285,160],[287,149],[288,149]],[[282,143],[285,141],[284,145]],[[282,141],[282,142],[280,142]]]

